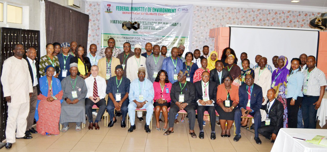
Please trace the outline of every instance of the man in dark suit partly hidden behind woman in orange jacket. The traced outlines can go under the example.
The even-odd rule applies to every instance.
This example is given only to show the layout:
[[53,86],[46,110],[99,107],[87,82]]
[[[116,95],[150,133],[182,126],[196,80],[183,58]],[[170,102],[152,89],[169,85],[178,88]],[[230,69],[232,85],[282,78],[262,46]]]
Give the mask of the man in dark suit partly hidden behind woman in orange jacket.
[[224,83],[221,79],[224,76],[228,76],[229,71],[224,68],[224,64],[221,60],[216,61],[215,68],[210,70],[210,81],[214,81],[217,86]]

